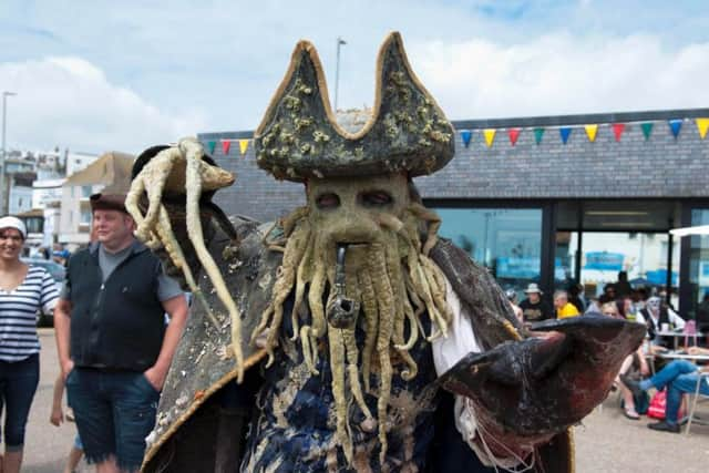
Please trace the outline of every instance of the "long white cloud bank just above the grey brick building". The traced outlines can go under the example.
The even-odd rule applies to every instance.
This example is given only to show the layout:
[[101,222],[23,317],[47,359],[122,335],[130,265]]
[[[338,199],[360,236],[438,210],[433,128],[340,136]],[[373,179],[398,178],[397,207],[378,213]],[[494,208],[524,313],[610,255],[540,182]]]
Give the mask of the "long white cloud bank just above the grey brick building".
[[646,34],[559,32],[517,44],[418,43],[410,55],[451,119],[709,105],[709,42],[669,48]]

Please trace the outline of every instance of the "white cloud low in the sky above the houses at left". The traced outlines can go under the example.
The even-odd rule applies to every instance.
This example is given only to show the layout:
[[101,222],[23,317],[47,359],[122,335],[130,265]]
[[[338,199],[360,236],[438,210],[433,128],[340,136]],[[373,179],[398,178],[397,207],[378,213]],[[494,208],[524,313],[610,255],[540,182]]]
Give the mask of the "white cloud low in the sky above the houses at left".
[[8,99],[8,147],[69,147],[101,153],[143,148],[204,130],[204,112],[188,105],[166,113],[112,83],[76,56],[0,64]]

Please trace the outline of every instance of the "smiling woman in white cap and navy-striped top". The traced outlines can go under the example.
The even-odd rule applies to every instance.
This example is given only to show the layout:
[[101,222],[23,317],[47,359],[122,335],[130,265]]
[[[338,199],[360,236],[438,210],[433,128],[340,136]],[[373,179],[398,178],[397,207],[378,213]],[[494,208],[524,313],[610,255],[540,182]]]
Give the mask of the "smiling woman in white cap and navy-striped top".
[[0,218],[0,412],[7,407],[0,472],[19,473],[24,426],[40,379],[38,310],[52,310],[59,294],[43,268],[20,260],[27,229],[16,217]]

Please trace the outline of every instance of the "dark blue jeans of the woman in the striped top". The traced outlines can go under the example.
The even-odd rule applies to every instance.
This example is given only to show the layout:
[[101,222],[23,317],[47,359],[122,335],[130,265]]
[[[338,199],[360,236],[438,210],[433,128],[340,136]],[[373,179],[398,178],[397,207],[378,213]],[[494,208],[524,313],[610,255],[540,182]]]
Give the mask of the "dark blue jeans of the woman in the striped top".
[[39,353],[20,361],[0,361],[0,414],[7,404],[4,445],[8,452],[21,451],[24,445],[24,426],[39,382]]

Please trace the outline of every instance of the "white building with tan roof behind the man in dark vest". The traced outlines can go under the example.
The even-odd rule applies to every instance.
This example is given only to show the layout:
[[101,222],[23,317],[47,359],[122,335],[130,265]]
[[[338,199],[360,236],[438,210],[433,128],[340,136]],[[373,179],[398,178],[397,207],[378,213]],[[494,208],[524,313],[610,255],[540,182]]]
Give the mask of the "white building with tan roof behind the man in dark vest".
[[125,193],[131,185],[133,156],[110,152],[89,166],[66,177],[62,185],[59,243],[73,251],[90,240],[92,194],[111,187]]

